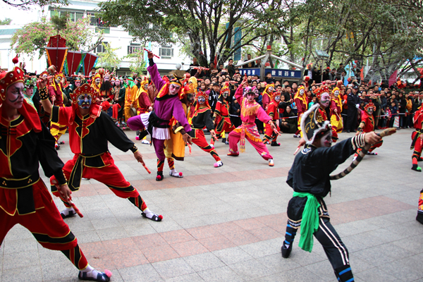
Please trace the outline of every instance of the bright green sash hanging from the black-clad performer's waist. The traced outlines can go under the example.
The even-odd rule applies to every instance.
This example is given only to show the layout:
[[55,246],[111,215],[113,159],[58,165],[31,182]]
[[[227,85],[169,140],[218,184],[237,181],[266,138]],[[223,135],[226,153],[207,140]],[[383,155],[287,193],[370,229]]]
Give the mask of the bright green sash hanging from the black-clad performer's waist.
[[294,192],[293,197],[307,197],[304,212],[302,212],[301,220],[301,238],[298,247],[307,252],[313,250],[313,234],[319,229],[319,209],[320,204],[317,202],[315,195],[306,192]]

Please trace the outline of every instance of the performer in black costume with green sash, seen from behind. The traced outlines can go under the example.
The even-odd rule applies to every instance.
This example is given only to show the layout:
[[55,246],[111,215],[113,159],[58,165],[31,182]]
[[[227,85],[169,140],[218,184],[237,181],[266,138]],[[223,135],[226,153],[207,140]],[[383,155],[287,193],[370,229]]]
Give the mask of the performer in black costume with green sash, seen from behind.
[[379,142],[381,137],[374,132],[361,133],[331,147],[331,123],[321,115],[319,104],[303,114],[301,130],[308,146],[295,157],[286,180],[293,188],[294,195],[288,203],[288,224],[281,248],[282,257],[289,257],[293,240],[301,226],[299,246],[311,252],[314,235],[324,248],[338,281],[354,281],[348,250],[331,225],[323,198],[331,192],[329,174],[359,147],[365,143]]

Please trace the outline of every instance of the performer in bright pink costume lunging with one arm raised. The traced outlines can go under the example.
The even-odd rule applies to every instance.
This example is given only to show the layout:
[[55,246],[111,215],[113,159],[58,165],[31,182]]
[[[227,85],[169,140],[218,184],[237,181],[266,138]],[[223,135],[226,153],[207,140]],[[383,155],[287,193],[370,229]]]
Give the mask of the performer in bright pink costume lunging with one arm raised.
[[271,117],[266,114],[262,106],[255,102],[255,92],[251,87],[245,88],[245,96],[243,96],[243,89],[247,85],[247,78],[244,78],[238,89],[235,91],[235,99],[241,105],[241,121],[243,124],[238,128],[235,128],[229,133],[229,154],[228,156],[237,157],[240,153],[238,152],[238,142],[240,142],[240,151],[245,152],[245,138],[250,142],[252,147],[257,149],[257,152],[262,156],[263,159],[269,161],[269,166],[274,166],[273,157],[269,153],[266,145],[260,139],[257,125],[255,124],[255,118],[257,117],[263,123],[270,123],[271,128],[276,129]]

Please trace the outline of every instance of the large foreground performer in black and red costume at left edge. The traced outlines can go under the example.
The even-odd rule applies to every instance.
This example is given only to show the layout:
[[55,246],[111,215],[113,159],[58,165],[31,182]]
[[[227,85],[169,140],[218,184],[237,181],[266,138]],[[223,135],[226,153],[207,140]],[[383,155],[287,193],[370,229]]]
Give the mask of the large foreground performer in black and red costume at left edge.
[[63,252],[80,270],[81,280],[109,281],[109,276],[88,264],[39,178],[41,164],[47,177],[57,179],[56,189],[63,200],[71,197],[54,137],[25,101],[24,87],[22,69],[0,73],[0,245],[8,231],[20,224],[43,247]]

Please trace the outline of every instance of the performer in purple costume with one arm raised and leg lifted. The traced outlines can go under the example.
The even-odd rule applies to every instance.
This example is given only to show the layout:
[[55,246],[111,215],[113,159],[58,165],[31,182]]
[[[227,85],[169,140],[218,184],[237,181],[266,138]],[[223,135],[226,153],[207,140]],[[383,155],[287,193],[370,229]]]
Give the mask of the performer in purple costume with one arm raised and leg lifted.
[[[153,56],[152,52],[148,51],[149,67],[147,71],[151,75],[154,85],[160,90],[155,98],[154,110],[148,114],[141,114],[140,116],[129,118],[128,126],[132,130],[145,130],[145,128],[147,128],[148,133],[152,135],[152,143],[157,155],[156,180],[160,181],[164,178],[163,167],[164,160],[166,159],[164,155],[164,140],[171,138],[169,133],[169,122],[172,116],[179,121],[187,132],[183,135],[185,143],[189,142],[191,144],[191,137],[188,135],[188,132],[191,131],[191,127],[179,99],[180,91],[183,88],[183,84],[180,80],[183,78],[178,78],[174,75],[174,78],[169,82],[164,81],[159,71],[157,71]],[[147,132],[145,132],[145,135],[147,135]]]

